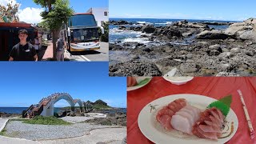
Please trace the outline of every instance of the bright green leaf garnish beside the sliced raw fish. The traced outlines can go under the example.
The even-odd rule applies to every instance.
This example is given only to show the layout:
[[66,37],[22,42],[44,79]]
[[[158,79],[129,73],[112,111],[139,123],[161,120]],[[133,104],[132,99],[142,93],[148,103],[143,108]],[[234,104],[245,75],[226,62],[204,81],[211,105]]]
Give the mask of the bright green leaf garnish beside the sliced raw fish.
[[227,115],[230,112],[230,104],[232,102],[232,95],[228,95],[224,98],[219,99],[216,102],[212,102],[210,103],[209,106],[207,106],[207,108],[212,108],[212,107],[216,107],[218,110],[222,111],[223,115]]

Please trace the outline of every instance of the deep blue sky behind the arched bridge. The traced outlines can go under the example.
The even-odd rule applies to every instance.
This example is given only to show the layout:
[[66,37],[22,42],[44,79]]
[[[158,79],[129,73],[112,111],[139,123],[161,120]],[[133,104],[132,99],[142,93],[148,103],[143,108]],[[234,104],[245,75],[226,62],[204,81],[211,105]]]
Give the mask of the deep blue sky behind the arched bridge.
[[[108,62],[0,62],[0,107],[30,106],[54,92],[126,107],[126,78],[109,77]],[[54,106],[68,106],[65,100]]]

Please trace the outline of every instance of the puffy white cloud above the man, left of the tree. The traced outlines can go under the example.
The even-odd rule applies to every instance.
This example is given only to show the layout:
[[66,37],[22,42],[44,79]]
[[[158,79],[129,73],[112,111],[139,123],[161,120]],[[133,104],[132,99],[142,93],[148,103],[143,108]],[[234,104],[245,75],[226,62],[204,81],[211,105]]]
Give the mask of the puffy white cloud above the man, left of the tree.
[[38,23],[42,21],[42,17],[40,13],[43,9],[34,8],[34,7],[26,7],[23,10],[18,11],[18,18],[20,22],[27,22],[27,23]]

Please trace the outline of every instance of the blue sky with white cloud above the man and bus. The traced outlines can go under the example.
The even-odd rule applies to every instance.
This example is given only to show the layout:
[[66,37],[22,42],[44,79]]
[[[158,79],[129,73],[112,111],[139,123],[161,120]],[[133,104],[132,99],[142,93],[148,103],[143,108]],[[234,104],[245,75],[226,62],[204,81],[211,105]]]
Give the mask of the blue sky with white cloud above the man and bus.
[[[36,5],[33,0],[0,0],[0,4],[8,2],[19,3],[18,17],[22,22],[38,23],[42,20],[40,13],[42,6]],[[85,13],[91,7],[108,7],[108,0],[70,0],[70,7],[75,13]]]

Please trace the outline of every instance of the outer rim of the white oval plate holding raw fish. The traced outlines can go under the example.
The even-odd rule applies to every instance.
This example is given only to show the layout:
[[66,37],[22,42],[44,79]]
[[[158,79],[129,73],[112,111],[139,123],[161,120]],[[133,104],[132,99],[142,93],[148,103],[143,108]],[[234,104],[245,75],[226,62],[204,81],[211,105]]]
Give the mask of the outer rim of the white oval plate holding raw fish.
[[[161,97],[161,98],[169,98],[169,97],[174,98],[174,97],[180,97],[180,96],[184,96],[184,95],[193,95],[193,96],[196,96],[196,97],[204,97],[204,98],[209,98],[209,99],[217,100],[217,99],[215,99],[215,98],[210,98],[210,97],[207,97],[207,96],[205,96],[205,95],[200,95],[200,94],[170,94],[170,95],[163,96],[163,97]],[[150,136],[147,135],[147,134],[142,130],[142,124],[141,124],[141,122],[142,122],[142,121],[141,121],[142,116],[141,116],[141,115],[142,115],[142,112],[147,109],[147,107],[149,106],[150,103],[152,103],[152,102],[157,102],[157,101],[159,101],[159,99],[161,99],[161,98],[154,99],[153,101],[147,103],[146,106],[144,106],[144,107],[142,108],[142,110],[140,111],[140,113],[138,114],[138,128],[139,128],[139,130],[142,132],[142,134],[143,134],[147,139],[149,139],[151,142],[154,142],[154,143],[159,143],[159,142],[156,141],[155,138],[150,138]],[[174,98],[174,99],[175,99],[175,98]],[[162,105],[161,105],[161,106],[162,106]],[[234,110],[232,110],[232,109],[230,108],[230,112],[231,112],[231,113],[234,113]],[[234,113],[234,119],[236,120],[237,125],[234,125],[233,134],[231,134],[230,137],[228,137],[228,139],[227,139],[226,141],[224,141],[224,143],[230,141],[230,139],[234,137],[234,134],[236,134],[236,132],[237,132],[237,130],[238,130],[238,125],[239,125],[238,116],[237,116],[235,113]],[[143,123],[146,123],[146,122],[143,122]],[[149,123],[150,123],[150,122],[149,122]],[[202,138],[202,139],[205,139],[205,138]],[[174,140],[174,141],[172,141],[172,142],[182,142],[182,141],[180,141],[180,139],[177,139],[177,138],[176,138],[176,139],[174,138],[173,140]],[[208,140],[208,139],[207,139],[207,140]],[[191,141],[188,141],[188,142],[191,142]],[[205,142],[198,142],[198,141],[195,141],[195,142],[197,142],[197,143],[205,143]],[[215,142],[215,141],[210,141],[210,140],[209,140],[209,143],[213,143],[213,142]],[[216,141],[215,143],[219,143],[219,141]]]

